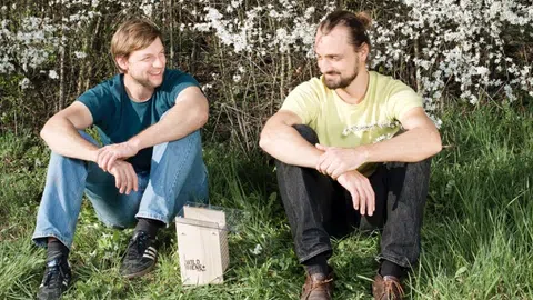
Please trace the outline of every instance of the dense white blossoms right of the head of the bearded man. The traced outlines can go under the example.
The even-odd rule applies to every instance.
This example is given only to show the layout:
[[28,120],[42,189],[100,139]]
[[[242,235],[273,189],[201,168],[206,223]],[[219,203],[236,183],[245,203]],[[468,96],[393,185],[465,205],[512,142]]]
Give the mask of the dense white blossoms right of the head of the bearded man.
[[510,101],[516,99],[519,89],[533,96],[531,66],[519,66],[507,51],[513,39],[521,39],[515,34],[533,41],[533,4],[519,0],[390,1],[399,9],[403,4],[405,16],[374,22],[371,67],[391,69],[413,62],[429,109],[449,86],[457,87],[457,96],[473,104],[480,92],[489,90],[503,90]]

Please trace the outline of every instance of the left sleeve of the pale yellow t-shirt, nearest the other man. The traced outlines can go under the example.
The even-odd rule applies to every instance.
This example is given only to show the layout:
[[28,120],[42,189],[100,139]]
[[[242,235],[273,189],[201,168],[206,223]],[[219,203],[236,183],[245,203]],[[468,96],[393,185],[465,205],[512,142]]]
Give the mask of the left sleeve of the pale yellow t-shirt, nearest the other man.
[[303,82],[289,93],[280,110],[289,110],[300,117],[303,124],[311,126],[319,114],[319,94],[312,81]]

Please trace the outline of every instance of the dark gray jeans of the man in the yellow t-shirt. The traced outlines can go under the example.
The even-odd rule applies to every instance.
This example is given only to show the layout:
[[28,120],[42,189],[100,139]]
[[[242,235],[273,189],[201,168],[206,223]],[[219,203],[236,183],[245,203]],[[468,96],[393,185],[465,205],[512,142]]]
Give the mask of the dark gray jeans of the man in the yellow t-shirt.
[[[310,127],[294,128],[311,144],[319,142]],[[276,161],[280,193],[300,262],[321,253],[330,257],[330,237],[342,237],[359,228],[382,230],[378,260],[412,267],[420,256],[430,162],[431,159],[380,164],[369,178],[375,192],[374,214],[361,217],[353,209],[350,193],[330,177],[315,169]]]

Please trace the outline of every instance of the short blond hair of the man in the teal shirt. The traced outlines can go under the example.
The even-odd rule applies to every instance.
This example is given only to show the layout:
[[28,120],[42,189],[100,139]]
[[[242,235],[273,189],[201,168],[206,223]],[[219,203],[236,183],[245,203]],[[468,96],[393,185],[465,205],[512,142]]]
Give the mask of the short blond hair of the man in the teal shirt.
[[117,57],[128,58],[131,52],[149,47],[157,38],[162,40],[161,31],[150,20],[131,19],[123,22],[111,39],[111,57],[117,64]]

